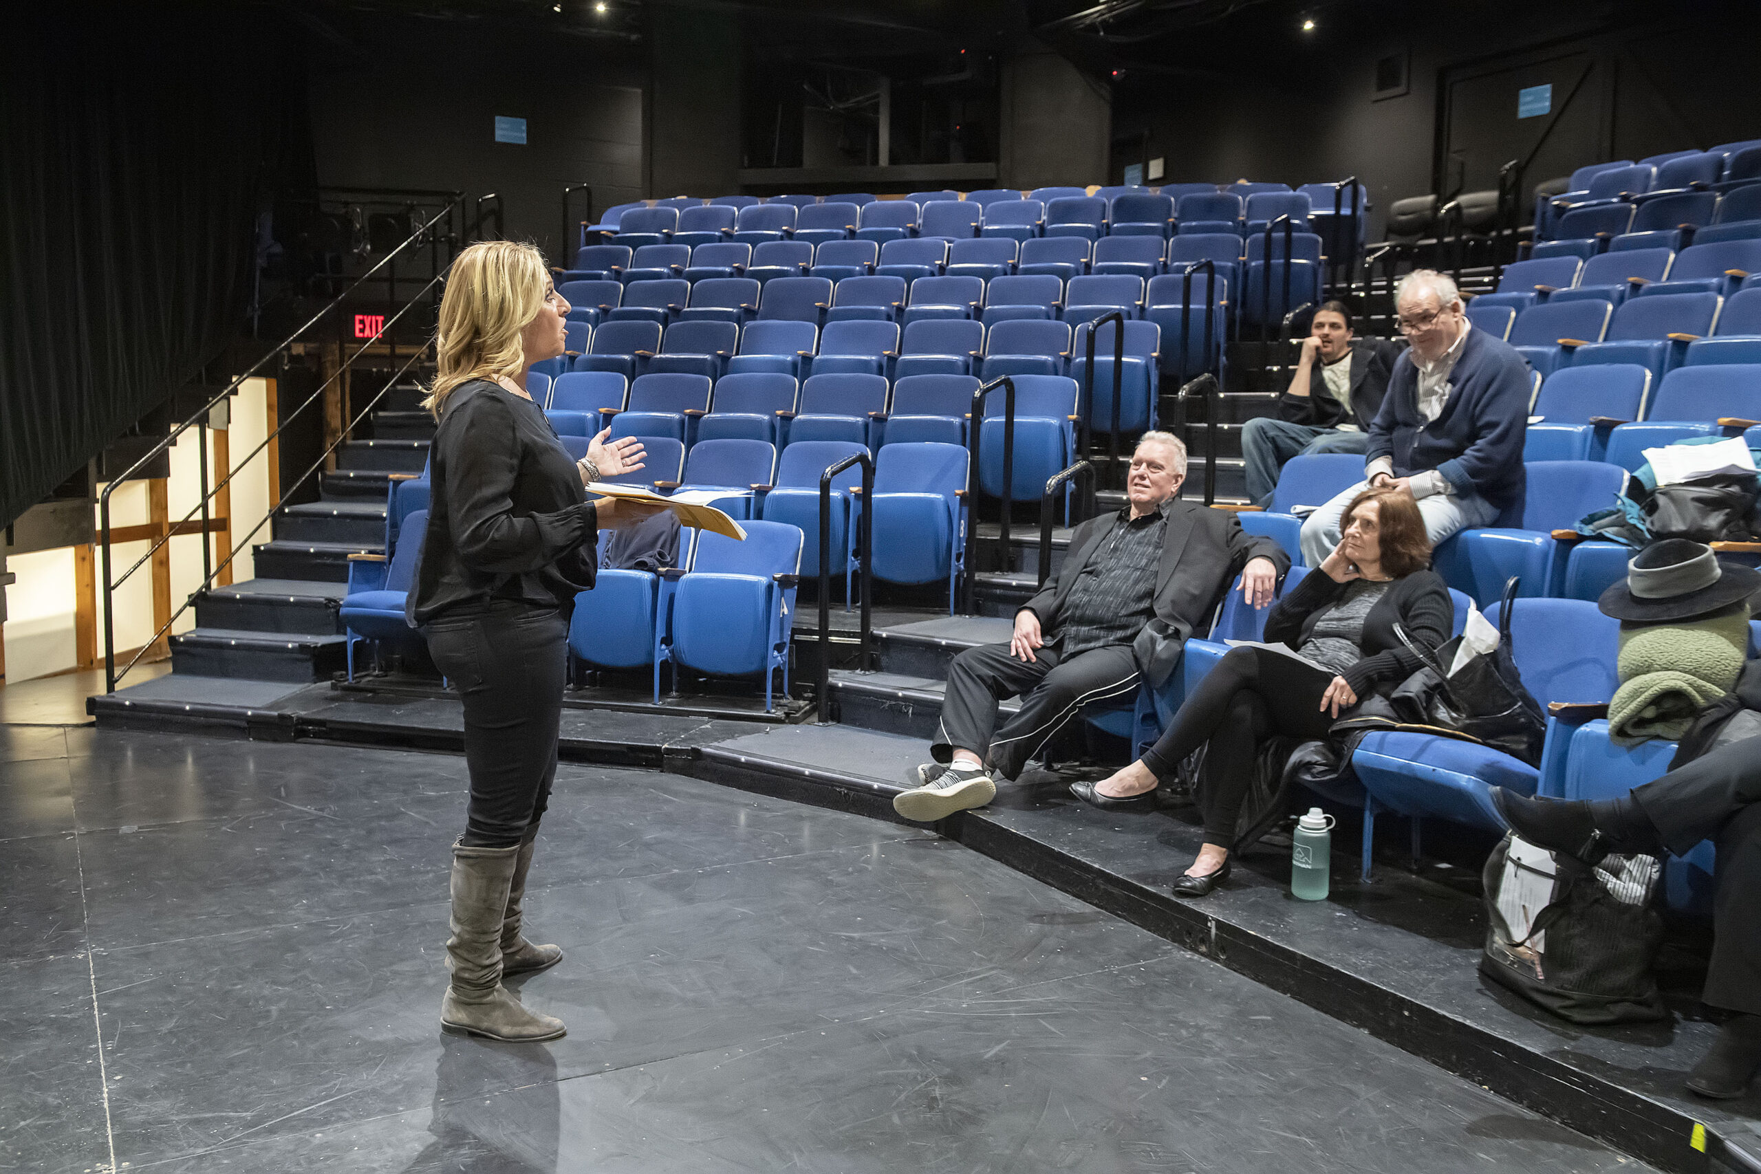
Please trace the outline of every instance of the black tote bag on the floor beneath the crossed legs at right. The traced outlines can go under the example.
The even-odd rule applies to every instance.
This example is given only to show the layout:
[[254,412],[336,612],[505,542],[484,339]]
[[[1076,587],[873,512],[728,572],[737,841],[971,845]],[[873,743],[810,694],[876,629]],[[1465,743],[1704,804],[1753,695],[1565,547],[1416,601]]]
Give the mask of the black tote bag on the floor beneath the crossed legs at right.
[[1655,855],[1585,864],[1507,833],[1486,859],[1479,973],[1560,1019],[1668,1019],[1652,965],[1662,945]]

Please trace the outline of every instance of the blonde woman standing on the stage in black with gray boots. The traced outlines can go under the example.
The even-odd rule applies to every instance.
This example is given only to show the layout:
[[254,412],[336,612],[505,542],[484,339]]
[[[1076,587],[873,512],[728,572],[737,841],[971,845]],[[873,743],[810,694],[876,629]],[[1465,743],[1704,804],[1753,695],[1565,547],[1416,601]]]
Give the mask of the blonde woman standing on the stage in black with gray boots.
[[534,363],[564,352],[565,303],[530,245],[463,250],[440,301],[431,505],[410,621],[465,702],[470,801],[453,845],[447,1028],[553,1040],[560,1019],[519,1005],[505,975],[562,959],[521,936],[521,898],[556,774],[574,595],[593,586],[602,526],[652,507],[586,500],[586,484],[641,468],[641,442],[593,438],[576,465],[525,393]]

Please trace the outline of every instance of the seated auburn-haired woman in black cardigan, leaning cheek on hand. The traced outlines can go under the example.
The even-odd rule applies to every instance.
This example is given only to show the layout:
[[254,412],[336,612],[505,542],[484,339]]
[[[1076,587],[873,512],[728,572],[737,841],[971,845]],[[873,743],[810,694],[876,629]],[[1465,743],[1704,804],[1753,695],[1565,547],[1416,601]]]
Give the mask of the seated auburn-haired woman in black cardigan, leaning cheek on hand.
[[1205,896],[1229,877],[1242,799],[1259,745],[1275,736],[1326,737],[1333,722],[1365,697],[1412,676],[1419,658],[1395,625],[1439,648],[1455,627],[1449,588],[1430,570],[1430,542],[1407,493],[1367,489],[1345,510],[1338,546],[1266,616],[1270,648],[1233,648],[1212,669],[1155,746],[1099,783],[1071,792],[1104,810],[1148,808],[1162,778],[1199,746],[1205,752],[1205,847],[1175,892]]

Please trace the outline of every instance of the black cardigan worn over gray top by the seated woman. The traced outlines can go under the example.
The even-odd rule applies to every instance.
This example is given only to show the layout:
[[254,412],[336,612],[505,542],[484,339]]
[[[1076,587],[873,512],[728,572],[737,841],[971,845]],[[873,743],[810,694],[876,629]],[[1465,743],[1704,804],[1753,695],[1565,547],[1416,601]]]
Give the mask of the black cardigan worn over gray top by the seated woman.
[[[1266,642],[1284,642],[1301,651],[1321,613],[1338,602],[1345,586],[1335,583],[1324,570],[1310,570],[1294,590],[1271,605],[1271,614],[1266,616]],[[1359,697],[1375,685],[1398,685],[1419,671],[1419,658],[1395,635],[1396,623],[1423,648],[1437,649],[1449,639],[1455,628],[1455,600],[1449,598],[1449,588],[1435,570],[1414,570],[1395,579],[1363,618],[1363,635],[1358,639],[1363,660],[1340,672],[1351,692]]]

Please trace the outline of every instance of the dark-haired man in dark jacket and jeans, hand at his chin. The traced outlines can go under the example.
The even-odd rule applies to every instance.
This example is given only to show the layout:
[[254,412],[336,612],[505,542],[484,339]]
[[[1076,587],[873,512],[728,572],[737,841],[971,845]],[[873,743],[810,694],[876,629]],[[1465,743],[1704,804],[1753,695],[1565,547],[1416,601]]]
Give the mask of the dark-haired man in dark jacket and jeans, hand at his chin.
[[[1400,357],[1400,343],[1356,340],[1351,310],[1323,303],[1308,324],[1301,359],[1291,385],[1278,396],[1278,414],[1242,426],[1242,456],[1247,458],[1247,500],[1271,502],[1278,470],[1293,456],[1308,452],[1363,454],[1370,421],[1388,394],[1388,375]],[[1314,502],[1310,502],[1314,505]]]

